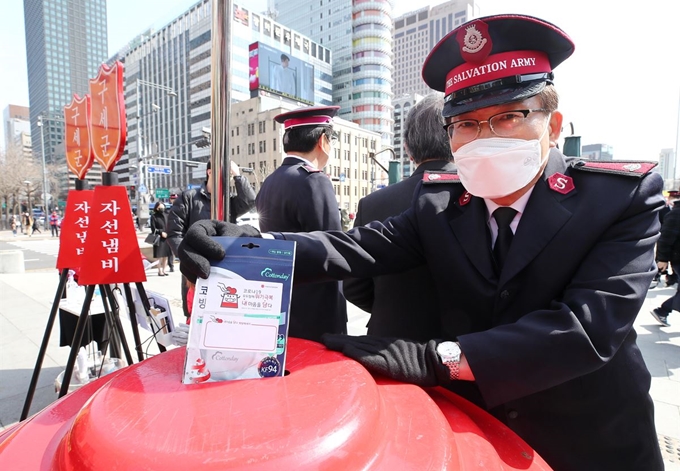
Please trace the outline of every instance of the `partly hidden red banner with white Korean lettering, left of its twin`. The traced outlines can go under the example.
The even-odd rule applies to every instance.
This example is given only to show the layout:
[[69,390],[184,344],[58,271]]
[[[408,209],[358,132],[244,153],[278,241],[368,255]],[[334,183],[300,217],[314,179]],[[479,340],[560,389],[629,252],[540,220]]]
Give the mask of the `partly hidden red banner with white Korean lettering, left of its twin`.
[[59,255],[57,256],[59,270],[72,269],[78,273],[82,266],[93,196],[93,190],[70,190],[68,192],[59,233]]

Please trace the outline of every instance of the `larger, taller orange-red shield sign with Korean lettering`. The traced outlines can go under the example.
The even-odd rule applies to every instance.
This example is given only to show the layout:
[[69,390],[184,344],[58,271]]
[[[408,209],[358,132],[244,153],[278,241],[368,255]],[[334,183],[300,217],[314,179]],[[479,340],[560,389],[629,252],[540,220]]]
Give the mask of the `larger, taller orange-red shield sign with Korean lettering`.
[[97,78],[90,79],[90,141],[94,158],[111,172],[125,148],[125,96],[123,64],[102,64]]

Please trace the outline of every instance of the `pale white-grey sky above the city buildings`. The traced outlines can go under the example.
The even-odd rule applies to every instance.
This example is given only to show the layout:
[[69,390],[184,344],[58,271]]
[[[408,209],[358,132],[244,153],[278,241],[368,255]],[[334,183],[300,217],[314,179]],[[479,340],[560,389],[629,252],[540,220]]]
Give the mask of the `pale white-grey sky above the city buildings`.
[[[195,0],[108,0],[109,51],[149,26],[162,26]],[[242,2],[251,11],[266,0]],[[395,14],[440,1],[395,0]],[[569,34],[576,52],[555,70],[565,130],[573,122],[583,144],[614,146],[614,157],[656,160],[675,148],[680,103],[680,2],[653,9],[604,0],[480,0],[482,15],[523,13],[550,21]],[[0,15],[0,109],[28,105],[23,1],[3,0]],[[4,137],[0,140],[4,146]]]

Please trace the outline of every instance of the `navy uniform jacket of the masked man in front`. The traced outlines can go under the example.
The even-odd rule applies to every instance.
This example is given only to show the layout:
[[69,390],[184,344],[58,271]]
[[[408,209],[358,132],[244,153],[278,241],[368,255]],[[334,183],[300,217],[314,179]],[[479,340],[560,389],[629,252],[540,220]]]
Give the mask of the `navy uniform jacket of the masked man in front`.
[[[297,241],[296,280],[427,263],[440,296],[440,338],[460,342],[475,375],[474,384],[454,382],[454,391],[468,389],[465,397],[554,469],[663,469],[651,377],[633,329],[654,276],[662,179],[588,171],[556,150],[549,159],[500,277],[484,201],[460,183],[434,183],[442,178],[383,223],[283,234]],[[573,190],[565,191],[569,179]]]

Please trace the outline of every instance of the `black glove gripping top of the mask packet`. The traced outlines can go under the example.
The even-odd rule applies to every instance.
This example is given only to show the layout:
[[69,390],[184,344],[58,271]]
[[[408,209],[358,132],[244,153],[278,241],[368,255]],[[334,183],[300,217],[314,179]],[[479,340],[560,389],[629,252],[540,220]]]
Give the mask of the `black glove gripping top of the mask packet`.
[[182,243],[177,249],[179,269],[192,283],[196,278],[208,278],[210,274],[210,260],[222,260],[225,252],[215,236],[227,237],[262,237],[260,231],[253,226],[238,226],[230,222],[204,219],[189,227]]

